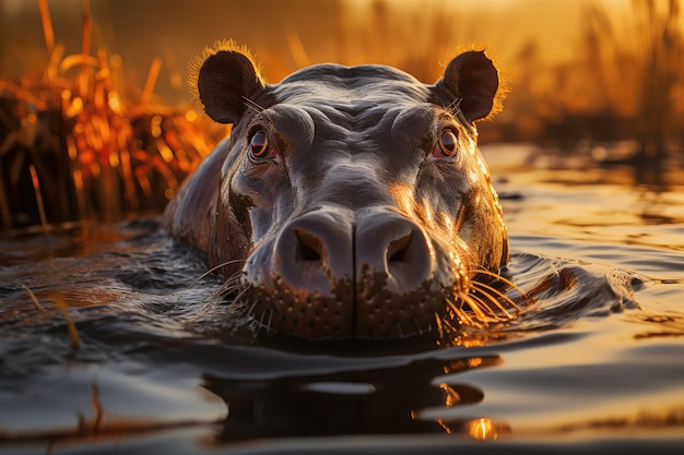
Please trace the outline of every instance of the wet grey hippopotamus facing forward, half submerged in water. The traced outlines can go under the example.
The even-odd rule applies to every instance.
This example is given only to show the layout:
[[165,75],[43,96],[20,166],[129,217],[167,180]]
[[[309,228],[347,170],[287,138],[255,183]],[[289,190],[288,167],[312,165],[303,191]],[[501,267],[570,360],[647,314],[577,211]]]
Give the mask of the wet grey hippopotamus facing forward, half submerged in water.
[[197,95],[231,133],[163,226],[221,267],[257,332],[405,338],[504,311],[486,289],[508,238],[475,128],[499,85],[482,50],[434,84],[332,63],[268,84],[248,52],[211,49]]

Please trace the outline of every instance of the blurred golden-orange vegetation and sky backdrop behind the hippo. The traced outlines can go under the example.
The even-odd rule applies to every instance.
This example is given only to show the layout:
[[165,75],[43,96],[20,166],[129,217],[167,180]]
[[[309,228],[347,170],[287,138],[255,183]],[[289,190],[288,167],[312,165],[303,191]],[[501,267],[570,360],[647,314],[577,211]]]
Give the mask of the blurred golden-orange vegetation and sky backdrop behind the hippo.
[[[682,159],[680,0],[0,0],[2,229],[161,211],[227,132],[191,104],[187,62],[233,38],[269,82],[323,61],[436,81],[459,49],[510,94],[481,142]],[[613,153],[606,153],[610,149]]]

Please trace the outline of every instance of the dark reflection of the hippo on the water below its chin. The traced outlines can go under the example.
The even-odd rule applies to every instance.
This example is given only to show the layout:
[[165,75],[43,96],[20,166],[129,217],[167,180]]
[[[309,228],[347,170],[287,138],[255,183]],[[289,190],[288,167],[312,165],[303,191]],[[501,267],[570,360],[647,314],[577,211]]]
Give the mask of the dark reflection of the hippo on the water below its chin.
[[[472,368],[469,366],[499,362],[498,356],[426,359],[404,367],[269,382],[207,374],[202,386],[221,396],[229,408],[216,438],[219,444],[261,438],[445,433],[439,422],[420,419],[420,410],[446,404],[475,405],[484,399],[484,393],[476,386],[450,387],[431,381],[445,372]],[[457,422],[451,431],[459,431]]]

